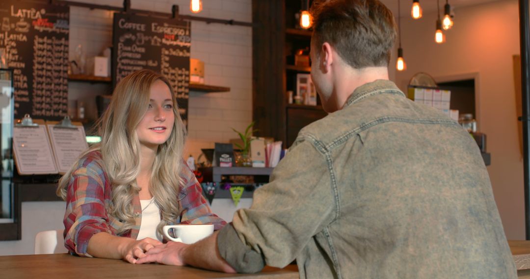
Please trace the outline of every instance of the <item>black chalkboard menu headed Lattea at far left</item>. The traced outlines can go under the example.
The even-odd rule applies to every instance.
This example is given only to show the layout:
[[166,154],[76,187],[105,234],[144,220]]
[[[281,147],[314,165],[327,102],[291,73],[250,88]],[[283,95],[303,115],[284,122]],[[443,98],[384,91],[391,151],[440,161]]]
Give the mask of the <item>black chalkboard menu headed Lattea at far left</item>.
[[69,8],[0,2],[0,48],[13,69],[15,118],[58,120],[68,111]]

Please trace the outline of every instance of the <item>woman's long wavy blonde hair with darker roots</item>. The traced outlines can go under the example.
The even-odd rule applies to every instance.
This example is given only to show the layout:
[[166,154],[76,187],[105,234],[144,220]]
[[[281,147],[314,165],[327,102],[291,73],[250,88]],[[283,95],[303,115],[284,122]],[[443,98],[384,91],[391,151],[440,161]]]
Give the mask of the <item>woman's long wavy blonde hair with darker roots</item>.
[[[151,70],[140,70],[123,78],[114,89],[107,110],[98,120],[101,143],[80,155],[82,158],[92,151],[101,152],[104,171],[112,187],[108,214],[125,223],[117,231],[118,234],[125,233],[135,225],[133,198],[140,191],[136,183],[140,172],[140,142],[136,127],[147,111],[151,86],[157,80],[169,87],[175,115],[171,135],[164,144],[158,146],[149,184],[149,192],[162,213],[162,220],[157,226],[158,233],[162,234],[163,226],[179,218],[179,193],[183,185],[179,173],[182,168],[185,127],[171,83],[164,76]],[[57,195],[63,199],[66,199],[68,185],[77,165],[78,161],[59,180]]]

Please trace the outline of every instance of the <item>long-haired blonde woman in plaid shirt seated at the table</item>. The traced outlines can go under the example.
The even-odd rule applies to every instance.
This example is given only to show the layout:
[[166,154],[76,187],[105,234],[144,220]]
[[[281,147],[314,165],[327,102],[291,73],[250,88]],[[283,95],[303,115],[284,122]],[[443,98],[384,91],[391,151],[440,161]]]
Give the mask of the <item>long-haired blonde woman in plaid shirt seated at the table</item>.
[[71,254],[136,263],[162,244],[165,225],[226,224],[182,159],[185,128],[169,80],[150,70],[125,77],[98,128],[101,143],[59,180]]

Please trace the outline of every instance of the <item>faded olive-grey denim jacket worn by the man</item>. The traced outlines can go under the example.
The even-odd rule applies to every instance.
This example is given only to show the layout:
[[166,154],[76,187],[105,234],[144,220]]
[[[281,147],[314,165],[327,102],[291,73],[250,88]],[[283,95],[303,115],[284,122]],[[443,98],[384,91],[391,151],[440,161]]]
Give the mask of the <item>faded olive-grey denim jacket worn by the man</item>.
[[388,80],[298,134],[220,231],[238,272],[296,258],[301,278],[516,278],[478,146]]

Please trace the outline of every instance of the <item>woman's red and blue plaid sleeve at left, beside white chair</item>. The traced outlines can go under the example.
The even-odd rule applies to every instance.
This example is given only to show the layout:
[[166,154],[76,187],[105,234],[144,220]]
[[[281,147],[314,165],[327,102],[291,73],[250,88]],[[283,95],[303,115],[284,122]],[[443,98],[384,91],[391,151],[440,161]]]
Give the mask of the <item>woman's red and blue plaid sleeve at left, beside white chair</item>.
[[113,232],[105,209],[104,173],[98,163],[87,161],[80,163],[68,184],[64,236],[71,254],[90,257],[86,253],[90,238]]

